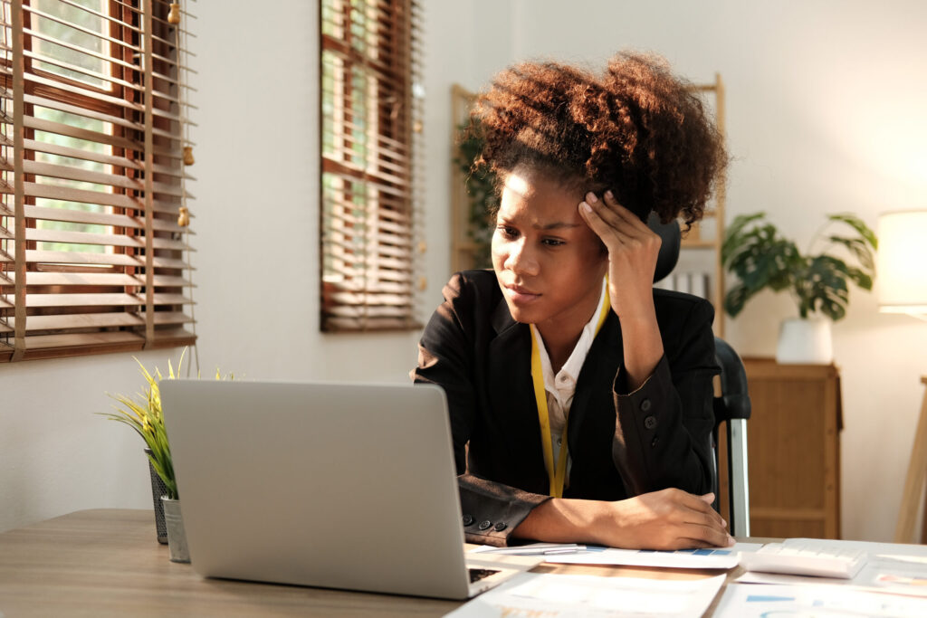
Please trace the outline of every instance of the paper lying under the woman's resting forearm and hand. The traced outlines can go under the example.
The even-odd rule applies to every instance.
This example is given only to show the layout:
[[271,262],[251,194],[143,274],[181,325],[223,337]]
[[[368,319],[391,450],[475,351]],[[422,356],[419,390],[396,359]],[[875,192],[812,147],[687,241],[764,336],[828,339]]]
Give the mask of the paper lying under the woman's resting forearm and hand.
[[740,561],[739,552],[756,551],[758,543],[738,543],[730,548],[677,549],[615,549],[555,543],[532,543],[513,548],[480,547],[480,553],[542,555],[545,562],[562,564],[621,564],[625,566],[655,566],[670,569],[730,569]]

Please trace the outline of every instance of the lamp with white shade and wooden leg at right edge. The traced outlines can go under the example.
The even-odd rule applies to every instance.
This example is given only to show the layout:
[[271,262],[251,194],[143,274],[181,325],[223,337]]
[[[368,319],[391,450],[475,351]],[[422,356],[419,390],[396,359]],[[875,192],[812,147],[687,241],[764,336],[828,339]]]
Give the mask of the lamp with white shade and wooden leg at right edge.
[[[876,290],[883,313],[907,313],[927,320],[927,210],[888,212],[879,217],[879,253]],[[921,376],[927,385],[927,376]],[[901,510],[895,525],[895,542],[910,543],[917,525],[924,481],[927,480],[927,393],[921,404]],[[927,526],[921,543],[927,542]]]

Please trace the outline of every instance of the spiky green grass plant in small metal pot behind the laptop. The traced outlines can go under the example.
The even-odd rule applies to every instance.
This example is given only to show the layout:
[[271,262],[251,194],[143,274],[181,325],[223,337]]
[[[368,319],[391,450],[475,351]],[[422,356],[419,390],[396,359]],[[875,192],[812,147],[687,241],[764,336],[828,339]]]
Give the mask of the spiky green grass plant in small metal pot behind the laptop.
[[[173,380],[180,376],[181,367],[184,363],[184,354],[181,354],[177,362],[177,372],[168,359],[167,379]],[[113,406],[115,412],[100,412],[112,421],[124,423],[132,427],[138,435],[142,436],[146,444],[146,453],[151,468],[158,475],[159,480],[163,483],[164,495],[156,497],[163,509],[163,520],[167,528],[168,545],[171,549],[171,561],[189,562],[190,554],[186,547],[186,536],[184,535],[184,522],[181,518],[180,496],[177,493],[177,480],[174,478],[173,463],[171,460],[171,446],[168,444],[168,435],[164,429],[164,417],[161,414],[161,396],[159,383],[165,378],[156,367],[154,372],[149,372],[145,365],[138,359],[142,375],[145,376],[146,385],[144,393],[137,394],[135,397],[125,397],[123,395],[110,395],[119,405]],[[228,379],[234,376],[229,374]],[[217,370],[216,379],[221,380],[222,374]],[[155,518],[158,521],[158,509],[156,506]]]

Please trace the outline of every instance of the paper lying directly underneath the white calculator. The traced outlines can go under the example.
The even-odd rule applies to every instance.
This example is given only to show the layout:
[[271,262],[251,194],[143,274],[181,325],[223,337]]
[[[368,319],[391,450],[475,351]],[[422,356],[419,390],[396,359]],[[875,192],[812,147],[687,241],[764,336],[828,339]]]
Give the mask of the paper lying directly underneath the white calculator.
[[[822,548],[858,549],[869,554],[866,565],[852,579],[805,577],[747,572],[737,578],[742,584],[787,584],[795,586],[844,586],[873,592],[927,597],[927,547],[900,543],[837,541],[831,539],[786,539],[783,545],[815,543]],[[927,615],[927,612],[924,613]]]

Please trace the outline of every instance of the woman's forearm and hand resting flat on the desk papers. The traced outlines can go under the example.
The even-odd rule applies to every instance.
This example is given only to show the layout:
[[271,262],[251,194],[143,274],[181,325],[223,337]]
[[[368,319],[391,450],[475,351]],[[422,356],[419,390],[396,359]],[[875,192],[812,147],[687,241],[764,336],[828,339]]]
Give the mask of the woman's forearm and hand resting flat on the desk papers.
[[531,511],[514,536],[622,549],[728,547],[734,539],[711,508],[713,500],[713,494],[672,488],[615,502],[551,498]]

